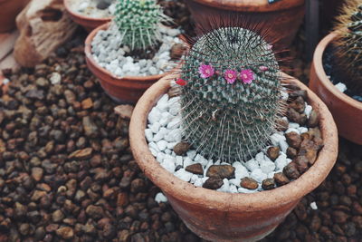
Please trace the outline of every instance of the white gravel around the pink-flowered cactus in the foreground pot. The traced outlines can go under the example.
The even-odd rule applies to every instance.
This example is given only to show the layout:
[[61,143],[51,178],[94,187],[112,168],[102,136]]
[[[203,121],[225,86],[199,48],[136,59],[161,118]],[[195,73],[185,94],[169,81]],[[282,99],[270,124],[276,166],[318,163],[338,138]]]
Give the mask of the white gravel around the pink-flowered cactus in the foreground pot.
[[[284,97],[285,98],[285,97]],[[227,164],[220,160],[206,160],[195,150],[187,151],[185,156],[177,156],[173,151],[176,143],[182,139],[179,115],[180,103],[179,97],[169,98],[164,94],[156,106],[148,114],[148,127],[145,130],[148,147],[161,166],[173,173],[177,178],[183,179],[194,184],[196,187],[202,187],[205,180],[208,179],[205,174],[211,165]],[[309,116],[312,107],[306,105],[305,113]],[[287,119],[284,117],[283,119]],[[279,131],[271,135],[271,142],[274,146],[279,146],[281,152],[279,157],[273,162],[267,155],[265,147],[261,152],[251,160],[240,160],[233,162],[235,168],[234,179],[224,179],[224,185],[218,189],[224,192],[233,193],[251,193],[262,190],[262,180],[273,178],[275,173],[282,172],[282,169],[291,162],[287,158],[285,133],[296,131],[298,133],[307,132],[308,128],[300,127],[298,123],[289,123],[289,129],[285,132]],[[195,175],[186,171],[186,167],[191,164],[200,163],[204,169],[204,175]],[[178,169],[176,169],[178,167]],[[250,190],[240,187],[240,181],[244,177],[255,179],[259,183],[259,188]]]

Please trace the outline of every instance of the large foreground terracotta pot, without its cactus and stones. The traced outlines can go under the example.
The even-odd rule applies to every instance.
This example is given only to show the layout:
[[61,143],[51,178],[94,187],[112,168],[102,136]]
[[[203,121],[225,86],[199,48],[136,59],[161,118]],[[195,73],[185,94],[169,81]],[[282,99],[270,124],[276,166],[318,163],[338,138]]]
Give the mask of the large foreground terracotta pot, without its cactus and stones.
[[304,84],[309,103],[320,114],[320,131],[324,148],[310,169],[299,179],[277,189],[252,194],[233,194],[195,187],[177,179],[163,169],[148,149],[145,127],[148,112],[168,91],[169,79],[164,77],[139,99],[129,126],[130,146],[138,166],[158,188],[162,189],[176,213],[199,237],[212,241],[255,241],[267,236],[311,190],[326,179],[337,159],[336,124],[317,95]]

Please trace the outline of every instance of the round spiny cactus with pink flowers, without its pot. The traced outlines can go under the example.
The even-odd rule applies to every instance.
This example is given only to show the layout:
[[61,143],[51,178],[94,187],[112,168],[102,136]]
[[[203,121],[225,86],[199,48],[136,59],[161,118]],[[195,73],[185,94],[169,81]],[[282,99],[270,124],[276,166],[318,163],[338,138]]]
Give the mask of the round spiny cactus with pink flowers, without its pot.
[[246,161],[268,145],[285,107],[271,47],[250,30],[223,27],[191,48],[177,83],[184,137],[197,152]]

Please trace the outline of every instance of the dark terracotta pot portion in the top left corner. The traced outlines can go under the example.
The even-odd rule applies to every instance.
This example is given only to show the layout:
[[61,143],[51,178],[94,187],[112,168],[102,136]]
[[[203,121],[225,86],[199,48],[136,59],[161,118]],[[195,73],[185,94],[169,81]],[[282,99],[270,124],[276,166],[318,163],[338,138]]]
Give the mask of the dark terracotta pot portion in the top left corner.
[[12,31],[15,18],[30,0],[0,0],[0,33]]

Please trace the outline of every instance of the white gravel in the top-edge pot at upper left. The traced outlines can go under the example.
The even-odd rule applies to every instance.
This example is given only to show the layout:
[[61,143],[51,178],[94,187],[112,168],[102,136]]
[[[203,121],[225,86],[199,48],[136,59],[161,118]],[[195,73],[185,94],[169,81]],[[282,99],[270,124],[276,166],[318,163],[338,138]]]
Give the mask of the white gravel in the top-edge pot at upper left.
[[106,9],[99,9],[97,4],[98,0],[73,0],[71,1],[71,10],[93,18],[110,17],[116,10],[116,0],[113,0],[113,3]]

